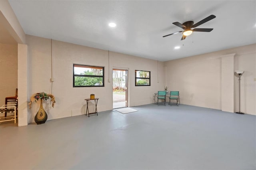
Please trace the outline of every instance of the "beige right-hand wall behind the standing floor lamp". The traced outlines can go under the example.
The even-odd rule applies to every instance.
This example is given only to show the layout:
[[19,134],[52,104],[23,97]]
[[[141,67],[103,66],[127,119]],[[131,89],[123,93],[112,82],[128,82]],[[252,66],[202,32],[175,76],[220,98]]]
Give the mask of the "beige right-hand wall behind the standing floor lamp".
[[[222,72],[230,75],[230,70],[223,70],[222,63],[228,54],[233,55],[233,53],[235,53],[234,70],[245,70],[241,80],[241,111],[256,115],[255,44],[166,61],[166,85],[169,86],[169,90],[180,91],[180,103],[182,104],[220,110],[228,107],[230,110],[232,102],[222,101],[228,100],[225,98],[226,95],[232,95],[232,91],[228,93],[225,91],[227,94],[222,95],[222,90],[227,89],[222,85]],[[232,66],[229,67],[232,68]],[[232,79],[234,79],[234,84],[230,82]],[[234,111],[238,111],[238,81],[235,74],[228,82],[230,82],[230,88],[234,88]],[[229,106],[222,106],[222,103]]]

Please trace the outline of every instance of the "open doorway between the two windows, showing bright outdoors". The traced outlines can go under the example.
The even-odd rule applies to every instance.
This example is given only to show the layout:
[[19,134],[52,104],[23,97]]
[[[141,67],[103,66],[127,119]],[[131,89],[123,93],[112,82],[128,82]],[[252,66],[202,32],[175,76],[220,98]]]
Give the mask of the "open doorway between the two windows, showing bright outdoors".
[[128,107],[128,70],[113,69],[113,109]]

